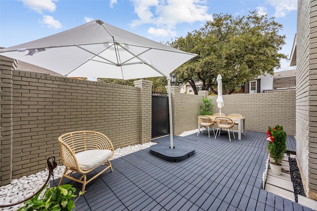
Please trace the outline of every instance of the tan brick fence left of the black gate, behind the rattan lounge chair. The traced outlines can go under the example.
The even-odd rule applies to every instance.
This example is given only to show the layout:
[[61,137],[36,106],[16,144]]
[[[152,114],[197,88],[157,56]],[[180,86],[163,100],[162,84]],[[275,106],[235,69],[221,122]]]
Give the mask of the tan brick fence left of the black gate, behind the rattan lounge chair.
[[151,141],[152,82],[135,86],[53,77],[14,70],[0,60],[0,178],[41,171],[59,156],[59,135],[75,130],[106,134],[115,148]]

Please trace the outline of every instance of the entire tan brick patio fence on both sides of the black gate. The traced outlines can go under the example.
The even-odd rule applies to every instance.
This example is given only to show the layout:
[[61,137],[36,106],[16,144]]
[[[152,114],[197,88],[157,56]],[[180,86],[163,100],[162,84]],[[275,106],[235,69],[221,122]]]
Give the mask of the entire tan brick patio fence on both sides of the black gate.
[[[59,156],[59,135],[75,130],[106,134],[115,148],[151,141],[152,82],[134,86],[106,84],[16,71],[16,62],[0,58],[0,185],[46,167]],[[173,86],[173,132],[197,128],[200,95]],[[209,96],[216,107],[216,96]],[[225,95],[222,113],[246,117],[246,129],[265,131],[283,125],[295,134],[295,91]]]

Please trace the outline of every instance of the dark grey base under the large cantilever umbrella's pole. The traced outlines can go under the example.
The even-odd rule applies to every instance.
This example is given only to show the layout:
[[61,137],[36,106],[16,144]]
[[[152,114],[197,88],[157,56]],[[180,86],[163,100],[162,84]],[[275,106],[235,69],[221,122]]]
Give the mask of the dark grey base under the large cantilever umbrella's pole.
[[150,147],[150,152],[165,161],[179,162],[195,154],[195,147],[188,144],[173,142],[173,149],[170,142],[163,141]]

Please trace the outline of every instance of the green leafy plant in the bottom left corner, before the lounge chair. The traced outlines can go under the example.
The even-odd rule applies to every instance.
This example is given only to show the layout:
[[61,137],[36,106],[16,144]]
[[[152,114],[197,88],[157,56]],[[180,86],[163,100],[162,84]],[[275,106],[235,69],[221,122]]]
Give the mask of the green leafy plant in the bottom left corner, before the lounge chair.
[[[47,186],[46,186],[47,187]],[[75,208],[75,202],[83,193],[80,191],[78,198],[74,195],[76,188],[70,184],[60,185],[57,187],[48,188],[42,199],[39,199],[43,188],[37,195],[30,200],[24,202],[25,206],[18,211],[71,211]]]

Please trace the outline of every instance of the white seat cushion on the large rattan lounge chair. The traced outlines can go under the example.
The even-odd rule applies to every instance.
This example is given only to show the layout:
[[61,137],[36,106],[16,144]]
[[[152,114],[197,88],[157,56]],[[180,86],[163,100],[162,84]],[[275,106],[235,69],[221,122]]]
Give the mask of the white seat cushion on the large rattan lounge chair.
[[76,153],[75,156],[80,169],[89,170],[106,161],[111,156],[111,154],[111,150],[94,149]]

